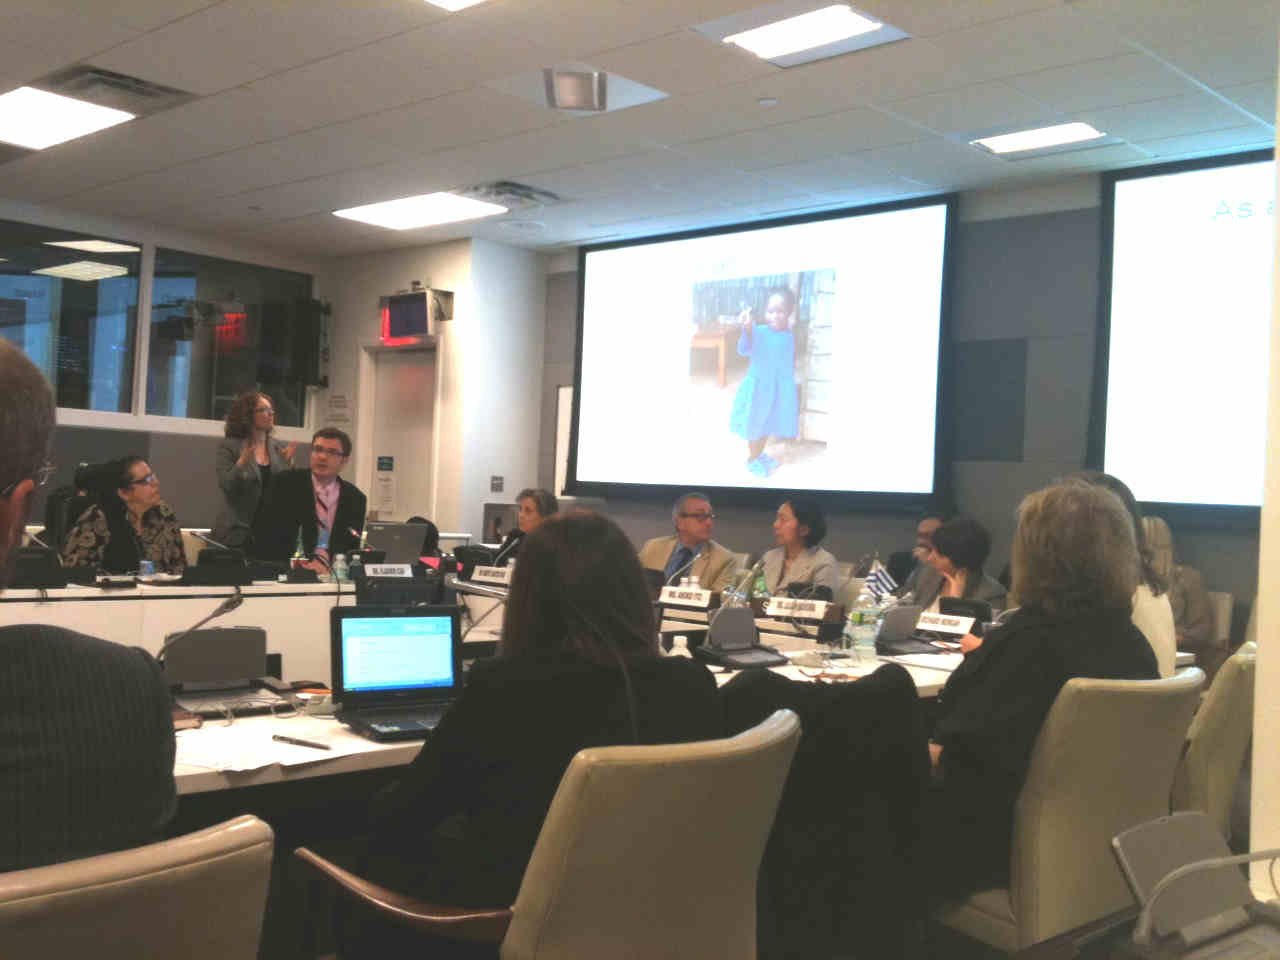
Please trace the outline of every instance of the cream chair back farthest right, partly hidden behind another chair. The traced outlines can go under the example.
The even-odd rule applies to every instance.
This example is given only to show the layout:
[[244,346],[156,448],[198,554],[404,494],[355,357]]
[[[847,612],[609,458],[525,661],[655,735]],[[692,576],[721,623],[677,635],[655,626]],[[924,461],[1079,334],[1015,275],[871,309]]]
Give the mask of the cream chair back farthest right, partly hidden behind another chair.
[[1174,810],[1202,810],[1230,840],[1231,797],[1253,733],[1257,646],[1229,657],[1213,677],[1174,773]]

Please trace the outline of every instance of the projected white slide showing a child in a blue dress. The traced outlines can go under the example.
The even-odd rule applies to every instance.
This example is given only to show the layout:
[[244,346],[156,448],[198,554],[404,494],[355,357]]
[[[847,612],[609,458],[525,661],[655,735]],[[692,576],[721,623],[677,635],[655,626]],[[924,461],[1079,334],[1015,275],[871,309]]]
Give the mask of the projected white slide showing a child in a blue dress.
[[947,206],[589,250],[582,483],[933,490]]

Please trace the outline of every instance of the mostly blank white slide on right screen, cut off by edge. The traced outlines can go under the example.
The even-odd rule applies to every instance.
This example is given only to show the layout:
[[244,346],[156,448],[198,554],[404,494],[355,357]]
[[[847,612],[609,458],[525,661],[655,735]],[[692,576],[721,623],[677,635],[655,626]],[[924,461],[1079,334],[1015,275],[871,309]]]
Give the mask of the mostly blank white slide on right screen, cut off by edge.
[[1272,161],[1115,182],[1103,468],[1139,500],[1260,506]]

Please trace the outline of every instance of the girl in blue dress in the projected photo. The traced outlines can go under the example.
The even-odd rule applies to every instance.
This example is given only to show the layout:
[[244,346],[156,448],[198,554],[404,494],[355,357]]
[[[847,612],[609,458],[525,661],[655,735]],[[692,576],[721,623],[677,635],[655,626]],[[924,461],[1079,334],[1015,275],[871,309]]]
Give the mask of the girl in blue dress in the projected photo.
[[730,430],[746,440],[746,468],[768,476],[778,462],[764,452],[769,436],[791,439],[799,433],[800,404],[796,389],[795,324],[796,294],[787,287],[768,293],[764,323],[756,325],[750,310],[740,317],[740,356],[750,357],[746,378],[733,398]]

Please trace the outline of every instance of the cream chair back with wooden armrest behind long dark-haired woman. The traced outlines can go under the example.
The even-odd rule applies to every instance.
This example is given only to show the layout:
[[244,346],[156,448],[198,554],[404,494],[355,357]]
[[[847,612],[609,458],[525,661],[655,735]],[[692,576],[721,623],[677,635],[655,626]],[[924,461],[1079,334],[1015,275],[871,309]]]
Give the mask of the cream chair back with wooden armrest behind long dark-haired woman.
[[756,874],[799,740],[778,710],[727,740],[580,751],[502,959],[754,960]]

